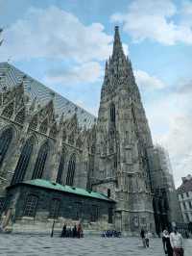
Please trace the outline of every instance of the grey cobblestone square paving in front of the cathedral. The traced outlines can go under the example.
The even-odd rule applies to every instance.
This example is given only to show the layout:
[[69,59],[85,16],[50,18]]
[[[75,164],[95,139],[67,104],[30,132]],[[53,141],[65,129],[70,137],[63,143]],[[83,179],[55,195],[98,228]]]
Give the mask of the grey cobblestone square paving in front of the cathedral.
[[[192,240],[185,240],[185,256],[191,256]],[[150,247],[141,246],[139,238],[62,239],[58,236],[0,235],[0,255],[19,256],[161,256],[161,239],[152,239]]]

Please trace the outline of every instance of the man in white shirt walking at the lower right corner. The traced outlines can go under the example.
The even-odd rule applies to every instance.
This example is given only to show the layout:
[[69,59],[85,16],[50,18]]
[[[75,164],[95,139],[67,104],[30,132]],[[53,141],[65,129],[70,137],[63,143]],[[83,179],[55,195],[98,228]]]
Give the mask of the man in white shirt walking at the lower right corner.
[[178,228],[174,227],[174,231],[170,234],[170,243],[174,251],[175,256],[184,255],[184,245],[181,234],[178,232]]

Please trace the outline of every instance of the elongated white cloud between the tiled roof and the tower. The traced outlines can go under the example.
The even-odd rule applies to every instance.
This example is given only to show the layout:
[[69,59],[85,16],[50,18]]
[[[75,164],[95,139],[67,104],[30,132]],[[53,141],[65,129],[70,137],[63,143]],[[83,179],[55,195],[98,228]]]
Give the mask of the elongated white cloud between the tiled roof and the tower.
[[89,62],[74,65],[68,69],[55,69],[48,71],[44,78],[45,83],[61,83],[62,85],[76,85],[81,83],[93,83],[101,78],[102,67],[97,62]]

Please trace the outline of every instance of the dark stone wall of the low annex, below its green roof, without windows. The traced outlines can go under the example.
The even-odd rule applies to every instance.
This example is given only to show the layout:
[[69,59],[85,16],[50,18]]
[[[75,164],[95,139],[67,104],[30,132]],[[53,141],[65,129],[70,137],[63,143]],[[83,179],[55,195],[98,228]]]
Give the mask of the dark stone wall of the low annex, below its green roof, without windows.
[[[24,216],[26,200],[29,194],[38,196],[35,218]],[[113,224],[108,223],[108,209],[114,208],[114,202],[112,201],[47,190],[24,184],[11,187],[8,190],[8,198],[9,202],[5,213],[9,209],[13,209],[13,216],[10,220],[13,232],[49,232],[54,220],[49,217],[51,204],[52,200],[56,198],[60,200],[59,216],[56,218],[55,224],[56,229],[60,230],[65,222],[67,226],[71,227],[81,222],[86,231],[101,232],[102,230],[113,228]],[[78,210],[80,205],[82,210]],[[95,219],[91,219],[93,207],[98,209]]]

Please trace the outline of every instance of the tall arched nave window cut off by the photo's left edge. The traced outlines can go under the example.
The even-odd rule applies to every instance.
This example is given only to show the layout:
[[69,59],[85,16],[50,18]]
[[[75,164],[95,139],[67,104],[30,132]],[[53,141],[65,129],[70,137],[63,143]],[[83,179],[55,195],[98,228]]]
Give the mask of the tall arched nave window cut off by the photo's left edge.
[[13,132],[12,128],[8,128],[7,130],[3,131],[0,136],[0,166],[2,165],[6,153],[10,147],[12,142]]

